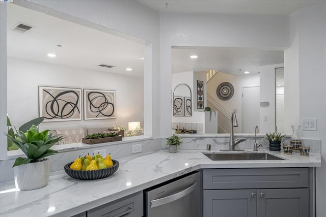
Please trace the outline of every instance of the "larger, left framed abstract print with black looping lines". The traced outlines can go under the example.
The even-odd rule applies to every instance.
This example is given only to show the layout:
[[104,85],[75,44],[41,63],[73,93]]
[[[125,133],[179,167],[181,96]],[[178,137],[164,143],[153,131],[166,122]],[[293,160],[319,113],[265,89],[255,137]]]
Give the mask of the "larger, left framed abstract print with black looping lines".
[[44,122],[82,120],[82,89],[39,86],[39,116]]

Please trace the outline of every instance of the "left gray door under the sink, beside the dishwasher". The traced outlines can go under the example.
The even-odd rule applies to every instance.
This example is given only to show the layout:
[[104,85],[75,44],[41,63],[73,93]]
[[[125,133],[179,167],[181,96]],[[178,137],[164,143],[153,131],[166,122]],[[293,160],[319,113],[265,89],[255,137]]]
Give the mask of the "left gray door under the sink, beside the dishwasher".
[[204,190],[204,217],[255,217],[257,190]]

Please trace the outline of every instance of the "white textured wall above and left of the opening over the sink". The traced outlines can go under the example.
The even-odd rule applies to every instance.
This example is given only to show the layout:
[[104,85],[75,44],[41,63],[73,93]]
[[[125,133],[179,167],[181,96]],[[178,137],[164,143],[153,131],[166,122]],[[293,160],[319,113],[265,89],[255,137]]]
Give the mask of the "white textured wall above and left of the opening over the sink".
[[289,46],[288,16],[160,13],[161,136],[171,133],[171,46]]

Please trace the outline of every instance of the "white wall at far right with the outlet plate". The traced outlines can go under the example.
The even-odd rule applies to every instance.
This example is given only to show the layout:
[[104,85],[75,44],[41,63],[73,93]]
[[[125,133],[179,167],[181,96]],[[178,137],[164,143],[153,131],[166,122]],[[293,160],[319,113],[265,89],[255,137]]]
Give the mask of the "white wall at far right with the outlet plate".
[[[316,168],[316,216],[322,217],[326,213],[326,3],[294,12],[291,34],[293,46],[285,53],[285,60],[294,57],[290,70],[299,72],[300,92],[291,93],[299,98],[300,119],[297,121],[317,118],[317,131],[301,131],[301,137],[321,140],[321,167]],[[286,89],[285,84],[285,97]]]

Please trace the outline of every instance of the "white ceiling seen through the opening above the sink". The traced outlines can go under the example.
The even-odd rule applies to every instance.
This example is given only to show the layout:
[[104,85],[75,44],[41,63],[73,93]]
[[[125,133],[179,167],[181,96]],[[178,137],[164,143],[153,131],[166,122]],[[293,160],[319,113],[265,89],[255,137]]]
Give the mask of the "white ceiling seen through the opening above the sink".
[[[192,59],[191,55],[198,55],[198,58]],[[240,76],[245,71],[251,74],[258,73],[260,66],[282,63],[284,63],[283,50],[239,47],[172,48],[172,73],[213,69]]]

